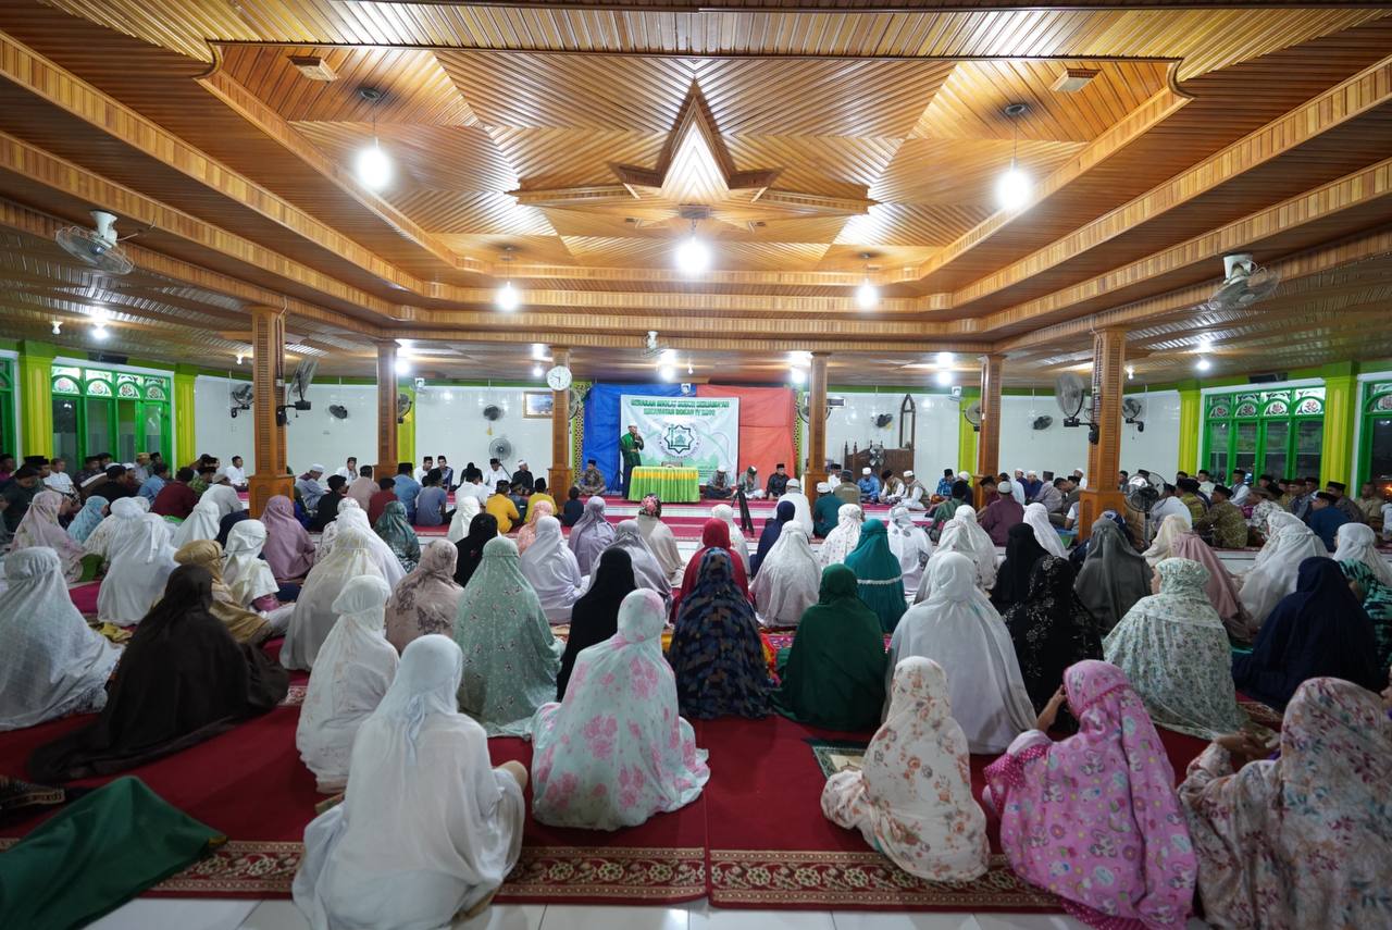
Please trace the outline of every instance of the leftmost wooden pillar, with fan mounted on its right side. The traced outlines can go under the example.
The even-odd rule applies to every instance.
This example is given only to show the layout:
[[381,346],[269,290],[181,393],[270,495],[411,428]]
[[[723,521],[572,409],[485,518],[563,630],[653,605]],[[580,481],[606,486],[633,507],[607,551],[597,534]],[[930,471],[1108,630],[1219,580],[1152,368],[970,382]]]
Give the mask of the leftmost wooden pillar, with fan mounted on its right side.
[[260,517],[276,494],[290,497],[295,479],[285,473],[285,317],[273,306],[252,308],[252,441],[256,472],[246,479],[251,512]]

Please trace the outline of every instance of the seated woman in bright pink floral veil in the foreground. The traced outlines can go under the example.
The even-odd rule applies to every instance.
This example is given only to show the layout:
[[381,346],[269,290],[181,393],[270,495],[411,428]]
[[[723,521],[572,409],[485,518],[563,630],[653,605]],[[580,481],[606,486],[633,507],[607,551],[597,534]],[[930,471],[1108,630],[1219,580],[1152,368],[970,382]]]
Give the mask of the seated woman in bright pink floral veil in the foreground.
[[1063,688],[1079,732],[1031,730],[986,770],[1001,848],[1090,926],[1183,927],[1196,859],[1160,735],[1115,665],[1077,663]]

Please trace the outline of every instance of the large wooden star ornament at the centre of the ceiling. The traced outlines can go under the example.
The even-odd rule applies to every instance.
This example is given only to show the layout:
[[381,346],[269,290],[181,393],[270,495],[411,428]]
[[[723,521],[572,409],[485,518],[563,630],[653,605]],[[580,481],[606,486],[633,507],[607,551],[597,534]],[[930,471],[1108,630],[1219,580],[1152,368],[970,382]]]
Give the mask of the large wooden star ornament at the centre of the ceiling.
[[774,187],[782,168],[736,168],[696,82],[686,92],[657,164],[651,168],[610,164],[610,170],[617,184],[508,194],[523,206],[622,217],[619,221],[629,230],[686,228],[692,219],[702,219],[753,231],[774,220],[860,216],[876,205],[867,196],[827,196]]

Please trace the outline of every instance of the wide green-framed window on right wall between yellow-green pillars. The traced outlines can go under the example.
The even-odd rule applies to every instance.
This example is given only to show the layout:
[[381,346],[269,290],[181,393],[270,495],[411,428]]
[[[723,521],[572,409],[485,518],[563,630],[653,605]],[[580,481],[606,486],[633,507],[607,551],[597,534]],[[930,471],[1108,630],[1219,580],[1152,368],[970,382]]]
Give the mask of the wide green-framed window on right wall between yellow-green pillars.
[[1324,387],[1244,390],[1204,398],[1200,468],[1222,482],[1240,468],[1275,478],[1318,475]]

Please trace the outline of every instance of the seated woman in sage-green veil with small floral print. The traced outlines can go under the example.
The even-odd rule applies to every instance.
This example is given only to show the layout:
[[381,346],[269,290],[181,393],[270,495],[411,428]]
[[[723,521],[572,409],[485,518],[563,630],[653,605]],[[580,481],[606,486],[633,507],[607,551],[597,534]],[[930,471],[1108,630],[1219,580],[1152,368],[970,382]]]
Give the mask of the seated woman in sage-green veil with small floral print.
[[459,710],[490,736],[532,732],[536,709],[555,696],[564,650],[518,561],[516,543],[490,539],[454,618],[464,650]]

